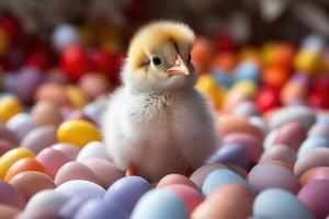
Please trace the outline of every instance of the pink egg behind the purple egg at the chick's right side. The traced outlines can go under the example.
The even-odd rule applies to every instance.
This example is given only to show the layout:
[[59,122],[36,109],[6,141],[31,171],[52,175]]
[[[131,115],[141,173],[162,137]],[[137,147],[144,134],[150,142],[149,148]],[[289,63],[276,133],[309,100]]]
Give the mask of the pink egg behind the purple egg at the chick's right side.
[[246,147],[251,162],[257,163],[263,152],[262,140],[245,132],[235,132],[225,136],[223,145],[238,143]]

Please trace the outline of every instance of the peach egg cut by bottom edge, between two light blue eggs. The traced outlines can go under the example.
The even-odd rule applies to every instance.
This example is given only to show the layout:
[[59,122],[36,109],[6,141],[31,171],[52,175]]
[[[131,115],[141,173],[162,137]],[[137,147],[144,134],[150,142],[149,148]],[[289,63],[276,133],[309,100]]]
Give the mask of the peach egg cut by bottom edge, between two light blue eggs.
[[252,212],[253,194],[240,184],[226,184],[215,189],[192,212],[192,219],[247,218]]

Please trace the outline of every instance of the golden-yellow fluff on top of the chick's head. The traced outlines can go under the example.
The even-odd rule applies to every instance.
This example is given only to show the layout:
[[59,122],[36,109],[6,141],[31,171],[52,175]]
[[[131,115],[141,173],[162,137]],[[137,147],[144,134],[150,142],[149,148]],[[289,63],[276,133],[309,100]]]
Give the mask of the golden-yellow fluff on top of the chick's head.
[[131,67],[137,69],[148,60],[154,49],[168,43],[193,44],[195,35],[193,31],[183,23],[178,22],[154,22],[143,26],[133,37],[127,61]]

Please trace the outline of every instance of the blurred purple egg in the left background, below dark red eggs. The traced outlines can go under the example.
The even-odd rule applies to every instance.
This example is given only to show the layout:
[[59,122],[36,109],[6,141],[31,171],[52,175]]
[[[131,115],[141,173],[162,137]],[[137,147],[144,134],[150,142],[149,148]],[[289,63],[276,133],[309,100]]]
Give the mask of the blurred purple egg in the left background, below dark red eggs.
[[32,103],[34,92],[37,87],[44,81],[44,74],[37,68],[23,68],[14,82],[14,93],[24,102]]

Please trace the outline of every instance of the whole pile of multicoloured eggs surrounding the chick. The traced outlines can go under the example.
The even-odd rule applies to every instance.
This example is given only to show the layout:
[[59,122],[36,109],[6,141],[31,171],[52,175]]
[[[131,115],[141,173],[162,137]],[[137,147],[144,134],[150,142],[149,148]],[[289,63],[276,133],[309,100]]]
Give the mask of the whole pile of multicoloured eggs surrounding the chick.
[[239,49],[232,41],[197,38],[196,88],[218,113],[220,148],[192,175],[148,182],[117,169],[102,142],[100,116],[118,83],[120,42],[86,41],[70,24],[29,49],[22,35],[14,18],[0,18],[1,219],[329,215],[329,59],[321,37]]

